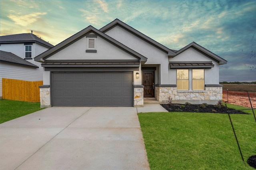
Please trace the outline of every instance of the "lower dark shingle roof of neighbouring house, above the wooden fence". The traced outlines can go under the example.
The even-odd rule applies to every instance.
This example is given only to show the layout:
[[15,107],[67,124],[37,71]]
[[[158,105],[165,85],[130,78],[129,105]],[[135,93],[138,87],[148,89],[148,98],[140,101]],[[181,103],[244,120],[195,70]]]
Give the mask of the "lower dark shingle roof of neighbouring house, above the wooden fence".
[[19,56],[10,53],[10,52],[6,52],[6,51],[1,51],[0,50],[0,61],[1,62],[6,62],[6,63],[14,63],[14,64],[19,64],[19,65],[25,65],[28,67],[35,67],[38,68],[37,65],[34,65],[22,58],[20,58]]

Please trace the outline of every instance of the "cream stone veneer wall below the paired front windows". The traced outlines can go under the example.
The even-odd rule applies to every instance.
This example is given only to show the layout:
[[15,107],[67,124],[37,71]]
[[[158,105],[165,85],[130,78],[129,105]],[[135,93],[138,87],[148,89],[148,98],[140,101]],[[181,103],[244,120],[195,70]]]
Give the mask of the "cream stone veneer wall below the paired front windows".
[[177,87],[156,87],[156,99],[162,103],[172,98],[173,103],[208,103],[215,105],[222,100],[222,87],[205,87],[205,90],[177,90]]

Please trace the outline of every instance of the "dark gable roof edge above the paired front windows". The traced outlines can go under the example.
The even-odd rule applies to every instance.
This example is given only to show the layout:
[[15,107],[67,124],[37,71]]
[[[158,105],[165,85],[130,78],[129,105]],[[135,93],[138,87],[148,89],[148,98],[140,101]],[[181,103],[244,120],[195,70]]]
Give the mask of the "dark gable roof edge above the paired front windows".
[[[195,49],[196,51],[198,51],[198,52],[204,54],[206,57],[209,57],[210,59],[212,59],[212,60],[214,60],[214,61],[217,61],[217,62],[219,63],[219,65],[226,64],[226,63],[228,62],[228,61],[226,61],[225,59],[219,57],[218,55],[212,53],[212,52],[209,51],[208,49],[205,49],[204,47],[198,45],[198,44],[195,43],[195,42],[192,42],[192,43],[186,45],[185,47],[183,47],[182,49],[178,50],[178,51],[176,52],[176,55],[175,55],[175,56],[179,55],[180,53],[186,51],[186,50],[189,49],[189,48],[193,48],[193,49]],[[174,56],[174,57],[175,57],[175,56]]]

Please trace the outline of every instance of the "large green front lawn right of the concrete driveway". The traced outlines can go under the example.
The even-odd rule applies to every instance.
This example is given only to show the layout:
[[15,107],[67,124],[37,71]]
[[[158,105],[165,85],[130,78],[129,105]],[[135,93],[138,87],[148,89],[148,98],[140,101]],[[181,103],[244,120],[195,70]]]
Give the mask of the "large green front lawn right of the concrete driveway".
[[[245,162],[256,154],[256,122],[252,111],[247,112],[250,115],[230,115]],[[254,169],[242,162],[227,114],[139,113],[138,117],[151,170]]]

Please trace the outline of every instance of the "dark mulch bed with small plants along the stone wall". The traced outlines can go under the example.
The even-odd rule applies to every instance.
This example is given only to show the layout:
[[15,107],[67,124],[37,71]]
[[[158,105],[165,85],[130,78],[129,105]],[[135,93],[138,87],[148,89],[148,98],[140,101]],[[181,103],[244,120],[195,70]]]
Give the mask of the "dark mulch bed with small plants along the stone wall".
[[[222,106],[221,108],[218,108],[216,105],[206,105],[205,108],[202,108],[202,105],[162,104],[162,107],[169,112],[227,113],[226,107]],[[228,112],[230,114],[248,114],[229,108]]]

